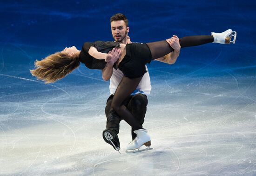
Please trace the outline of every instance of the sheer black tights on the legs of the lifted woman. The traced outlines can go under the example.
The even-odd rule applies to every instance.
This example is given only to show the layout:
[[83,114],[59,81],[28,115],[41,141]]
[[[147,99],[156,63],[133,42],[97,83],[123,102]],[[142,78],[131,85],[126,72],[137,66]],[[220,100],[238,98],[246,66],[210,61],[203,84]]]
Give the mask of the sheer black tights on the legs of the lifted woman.
[[[213,36],[188,36],[180,38],[181,48],[188,46],[197,46],[201,44],[207,44],[213,42]],[[165,41],[147,43],[149,50],[151,51],[152,58],[157,59],[167,55],[174,51],[173,48]],[[146,64],[146,63],[145,63]],[[142,125],[135,119],[132,113],[127,107],[123,105],[123,101],[137,88],[141,82],[141,77],[128,78],[123,76],[119,83],[114,98],[112,100],[112,107],[118,115],[121,116],[134,130],[142,129]]]

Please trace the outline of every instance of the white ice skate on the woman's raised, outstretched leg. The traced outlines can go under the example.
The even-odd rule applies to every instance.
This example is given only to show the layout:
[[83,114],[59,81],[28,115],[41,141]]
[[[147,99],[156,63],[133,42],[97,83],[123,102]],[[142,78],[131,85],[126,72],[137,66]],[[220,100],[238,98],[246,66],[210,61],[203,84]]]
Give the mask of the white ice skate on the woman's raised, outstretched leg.
[[[236,42],[236,31],[232,31],[231,29],[228,29],[227,31],[224,31],[222,33],[211,33],[214,40],[213,43],[219,43],[219,44],[235,44]],[[233,40],[232,40],[233,38]]]

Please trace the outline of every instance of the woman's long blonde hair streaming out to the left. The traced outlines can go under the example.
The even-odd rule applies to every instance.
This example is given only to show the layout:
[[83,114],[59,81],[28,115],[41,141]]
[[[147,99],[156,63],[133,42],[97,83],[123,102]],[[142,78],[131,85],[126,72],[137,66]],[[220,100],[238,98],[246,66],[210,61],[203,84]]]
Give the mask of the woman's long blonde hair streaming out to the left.
[[41,61],[36,60],[34,65],[36,69],[30,70],[30,73],[45,83],[51,83],[71,73],[80,65],[80,61],[79,57],[56,52]]

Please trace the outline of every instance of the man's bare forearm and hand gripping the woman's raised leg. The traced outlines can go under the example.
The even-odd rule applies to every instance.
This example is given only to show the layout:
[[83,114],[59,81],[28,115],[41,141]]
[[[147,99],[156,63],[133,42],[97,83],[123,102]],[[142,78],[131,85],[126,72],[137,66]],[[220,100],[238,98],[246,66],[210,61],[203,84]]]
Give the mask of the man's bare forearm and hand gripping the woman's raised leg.
[[155,60],[163,63],[174,64],[179,57],[181,50],[179,38],[173,35],[172,38],[168,38],[166,41],[174,49],[174,51],[169,53],[168,55],[165,55],[164,57],[160,57]]

